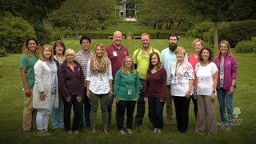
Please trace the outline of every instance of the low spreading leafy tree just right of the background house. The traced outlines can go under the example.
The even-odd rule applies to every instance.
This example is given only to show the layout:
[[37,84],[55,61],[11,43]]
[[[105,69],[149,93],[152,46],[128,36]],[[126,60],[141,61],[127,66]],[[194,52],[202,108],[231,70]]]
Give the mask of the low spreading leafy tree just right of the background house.
[[185,6],[181,0],[144,0],[138,5],[138,21],[153,23],[156,29],[162,23],[168,23],[169,26],[174,22],[191,23],[195,19],[190,16]]

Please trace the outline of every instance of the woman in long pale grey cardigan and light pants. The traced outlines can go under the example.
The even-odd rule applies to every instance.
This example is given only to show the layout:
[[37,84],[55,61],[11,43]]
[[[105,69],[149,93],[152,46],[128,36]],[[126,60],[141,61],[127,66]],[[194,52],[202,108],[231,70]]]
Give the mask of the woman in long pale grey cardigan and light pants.
[[49,135],[50,111],[58,108],[58,77],[54,62],[54,50],[49,45],[42,46],[41,58],[34,65],[33,107],[38,110],[36,123],[38,135]]

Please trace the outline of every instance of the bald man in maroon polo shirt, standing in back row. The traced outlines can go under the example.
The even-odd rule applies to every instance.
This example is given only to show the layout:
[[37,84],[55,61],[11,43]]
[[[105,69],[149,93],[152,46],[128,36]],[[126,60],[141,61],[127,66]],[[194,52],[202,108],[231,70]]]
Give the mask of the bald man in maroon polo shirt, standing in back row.
[[[129,55],[129,52],[126,46],[122,46],[122,33],[121,31],[115,31],[113,34],[113,40],[110,46],[106,47],[106,54],[111,61],[111,68],[112,68],[112,76],[115,77],[115,74],[122,66],[122,61]],[[113,81],[114,86],[114,81]],[[114,100],[114,95],[111,96],[109,102],[107,103],[107,110],[109,114],[108,120],[108,128],[110,129],[111,126],[111,116],[112,116],[112,104]]]

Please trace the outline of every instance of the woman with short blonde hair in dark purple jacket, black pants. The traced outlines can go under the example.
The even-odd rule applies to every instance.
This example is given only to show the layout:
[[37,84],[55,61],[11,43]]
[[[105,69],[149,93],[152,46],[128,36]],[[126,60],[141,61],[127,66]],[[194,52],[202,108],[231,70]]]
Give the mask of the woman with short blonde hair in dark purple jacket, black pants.
[[[64,103],[64,127],[68,133],[72,131],[77,134],[79,130],[79,118],[82,117],[82,97],[84,93],[85,78],[81,65],[74,60],[75,52],[68,49],[65,52],[64,59],[58,71],[60,91]],[[74,119],[72,130],[70,127],[71,108],[74,109]]]

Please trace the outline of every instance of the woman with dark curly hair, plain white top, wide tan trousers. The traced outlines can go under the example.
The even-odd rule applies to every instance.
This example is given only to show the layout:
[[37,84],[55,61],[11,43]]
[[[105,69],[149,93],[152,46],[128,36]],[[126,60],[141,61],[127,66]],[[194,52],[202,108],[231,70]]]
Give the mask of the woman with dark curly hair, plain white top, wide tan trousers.
[[198,134],[216,134],[215,99],[218,82],[218,68],[213,61],[213,52],[202,48],[199,62],[195,66],[197,87],[194,92],[198,95],[198,115],[196,132]]

